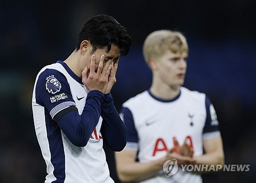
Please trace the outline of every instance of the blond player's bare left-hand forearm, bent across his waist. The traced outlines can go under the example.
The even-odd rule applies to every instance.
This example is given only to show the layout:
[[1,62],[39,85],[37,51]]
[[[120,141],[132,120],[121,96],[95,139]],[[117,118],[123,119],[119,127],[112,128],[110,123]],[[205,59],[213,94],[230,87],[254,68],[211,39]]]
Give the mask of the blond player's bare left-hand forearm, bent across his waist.
[[132,182],[154,177],[162,170],[165,161],[165,158],[160,158],[149,163],[122,163],[117,165],[119,179],[122,182]]

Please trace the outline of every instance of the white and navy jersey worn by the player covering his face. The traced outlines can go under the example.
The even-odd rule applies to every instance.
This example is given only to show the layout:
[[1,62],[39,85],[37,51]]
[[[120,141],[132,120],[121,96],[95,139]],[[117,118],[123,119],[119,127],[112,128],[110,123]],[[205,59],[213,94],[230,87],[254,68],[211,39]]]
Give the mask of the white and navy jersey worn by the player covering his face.
[[32,108],[36,136],[47,165],[45,182],[114,182],[102,148],[102,118],[85,147],[73,145],[53,120],[70,106],[81,115],[86,98],[81,79],[64,62],[42,68],[36,77]]

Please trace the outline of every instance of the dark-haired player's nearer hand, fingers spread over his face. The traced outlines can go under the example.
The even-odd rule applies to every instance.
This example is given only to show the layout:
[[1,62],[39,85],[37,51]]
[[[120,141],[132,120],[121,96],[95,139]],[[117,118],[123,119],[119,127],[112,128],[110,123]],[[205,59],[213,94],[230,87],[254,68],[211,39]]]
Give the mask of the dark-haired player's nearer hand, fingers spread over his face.
[[[91,57],[90,71],[86,66],[82,72],[82,83],[86,86],[88,91],[99,90],[103,94],[108,88],[109,75],[111,71],[110,60],[103,66],[105,56],[101,55],[98,69],[95,72],[95,55]],[[88,74],[89,73],[89,74]]]

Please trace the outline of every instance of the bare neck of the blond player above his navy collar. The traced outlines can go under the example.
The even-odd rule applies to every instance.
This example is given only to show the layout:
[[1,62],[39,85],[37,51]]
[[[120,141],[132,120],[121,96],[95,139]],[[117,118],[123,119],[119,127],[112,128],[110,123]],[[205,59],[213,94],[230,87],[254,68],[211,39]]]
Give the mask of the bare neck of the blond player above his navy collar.
[[150,88],[151,93],[160,99],[170,100],[174,99],[180,93],[180,86],[168,86],[168,85],[157,85],[152,84]]

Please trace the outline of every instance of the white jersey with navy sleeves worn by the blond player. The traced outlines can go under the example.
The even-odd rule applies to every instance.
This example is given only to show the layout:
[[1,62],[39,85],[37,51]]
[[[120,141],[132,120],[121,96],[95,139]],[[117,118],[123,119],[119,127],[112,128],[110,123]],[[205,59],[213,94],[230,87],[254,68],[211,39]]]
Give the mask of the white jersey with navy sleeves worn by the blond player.
[[[161,100],[149,90],[123,104],[120,116],[127,127],[126,150],[138,151],[137,160],[151,162],[166,155],[185,139],[191,141],[194,155],[203,154],[203,139],[220,135],[216,112],[203,93],[180,87],[172,100]],[[179,171],[166,177],[159,174],[143,182],[202,182],[200,174]]]

